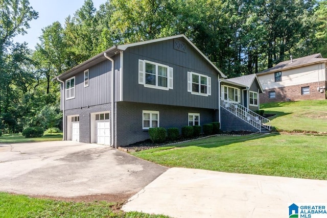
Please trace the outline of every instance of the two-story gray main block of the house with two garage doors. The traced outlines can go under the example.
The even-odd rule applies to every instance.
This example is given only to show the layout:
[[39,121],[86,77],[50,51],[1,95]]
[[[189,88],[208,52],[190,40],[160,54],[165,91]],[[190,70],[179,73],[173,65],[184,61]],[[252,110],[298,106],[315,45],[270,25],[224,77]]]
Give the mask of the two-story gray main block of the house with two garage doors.
[[116,148],[148,139],[151,127],[221,121],[223,78],[184,35],[110,47],[55,78],[63,139]]

